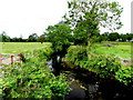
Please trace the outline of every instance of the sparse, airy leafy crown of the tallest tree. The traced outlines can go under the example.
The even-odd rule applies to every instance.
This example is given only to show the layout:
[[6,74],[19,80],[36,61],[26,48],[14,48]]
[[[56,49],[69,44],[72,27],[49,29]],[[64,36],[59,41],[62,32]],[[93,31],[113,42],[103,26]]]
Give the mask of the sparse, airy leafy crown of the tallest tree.
[[74,39],[91,43],[100,33],[100,27],[116,30],[123,8],[117,2],[106,0],[73,0],[68,2],[69,12],[63,17],[73,28]]

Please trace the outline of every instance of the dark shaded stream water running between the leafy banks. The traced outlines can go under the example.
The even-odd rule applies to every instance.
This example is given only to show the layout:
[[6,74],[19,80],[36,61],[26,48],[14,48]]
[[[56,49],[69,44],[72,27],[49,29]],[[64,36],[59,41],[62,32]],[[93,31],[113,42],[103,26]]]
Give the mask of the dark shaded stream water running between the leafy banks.
[[62,61],[57,67],[52,66],[52,61],[48,63],[55,76],[64,73],[71,83],[72,91],[65,96],[65,100],[133,100],[133,87],[124,86],[115,79],[101,79],[70,61]]

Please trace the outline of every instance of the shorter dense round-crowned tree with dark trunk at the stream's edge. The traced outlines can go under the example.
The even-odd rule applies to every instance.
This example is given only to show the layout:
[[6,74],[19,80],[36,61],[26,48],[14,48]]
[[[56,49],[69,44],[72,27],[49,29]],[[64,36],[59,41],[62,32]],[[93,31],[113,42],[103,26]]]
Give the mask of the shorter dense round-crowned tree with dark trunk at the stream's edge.
[[[62,57],[65,56],[66,49],[70,47],[71,42],[71,29],[66,24],[55,24],[49,26],[47,32],[44,32],[47,41],[52,43],[52,67],[57,70],[55,74],[59,74],[60,62]],[[60,57],[60,58],[59,58]],[[59,60],[58,60],[59,58]]]

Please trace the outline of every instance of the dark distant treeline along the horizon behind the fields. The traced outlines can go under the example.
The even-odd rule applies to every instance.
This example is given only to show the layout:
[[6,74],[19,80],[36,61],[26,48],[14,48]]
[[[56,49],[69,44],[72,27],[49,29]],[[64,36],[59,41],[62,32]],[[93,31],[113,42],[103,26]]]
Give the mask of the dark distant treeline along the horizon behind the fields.
[[[2,42],[47,42],[47,37],[44,34],[38,36],[37,33],[32,33],[29,36],[28,39],[20,38],[10,38],[7,36],[7,33],[3,31],[0,33],[0,41]],[[72,39],[73,42],[74,39]],[[104,32],[102,34],[96,36],[96,41],[133,41],[133,34],[132,33],[117,33],[117,32]]]

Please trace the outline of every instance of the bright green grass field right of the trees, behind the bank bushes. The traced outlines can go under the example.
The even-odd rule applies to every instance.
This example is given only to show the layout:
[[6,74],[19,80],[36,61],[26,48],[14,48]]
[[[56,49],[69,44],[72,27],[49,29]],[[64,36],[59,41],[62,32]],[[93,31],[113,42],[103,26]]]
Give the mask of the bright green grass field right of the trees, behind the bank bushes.
[[103,43],[119,43],[113,47],[103,47],[102,44],[96,44],[92,52],[96,54],[114,54],[123,59],[131,59],[131,43],[130,42],[103,42]]

